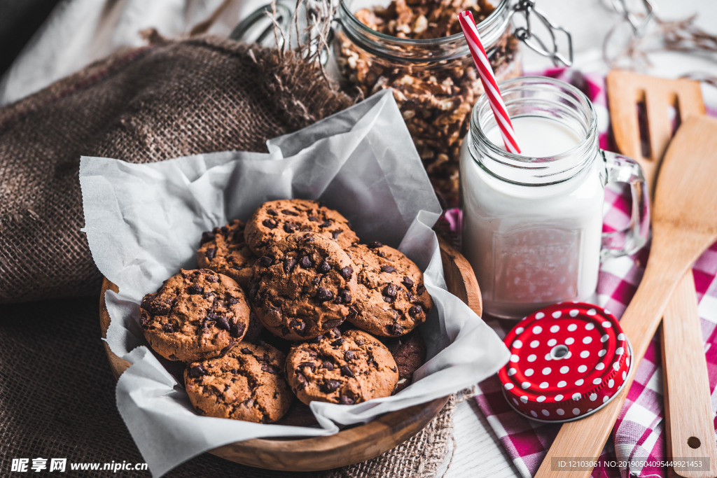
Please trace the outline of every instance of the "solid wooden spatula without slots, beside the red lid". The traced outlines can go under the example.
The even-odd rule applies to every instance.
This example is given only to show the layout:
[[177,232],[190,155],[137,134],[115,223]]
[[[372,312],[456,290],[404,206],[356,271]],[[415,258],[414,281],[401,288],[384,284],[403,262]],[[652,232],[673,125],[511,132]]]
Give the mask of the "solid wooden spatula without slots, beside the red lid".
[[620,324],[632,343],[635,367],[625,388],[585,419],[564,424],[536,478],[588,478],[592,472],[552,472],[552,459],[597,459],[617,420],[637,364],[645,356],[670,295],[690,264],[717,240],[717,120],[683,121],[663,160],[652,213],[652,249],[645,275]]

